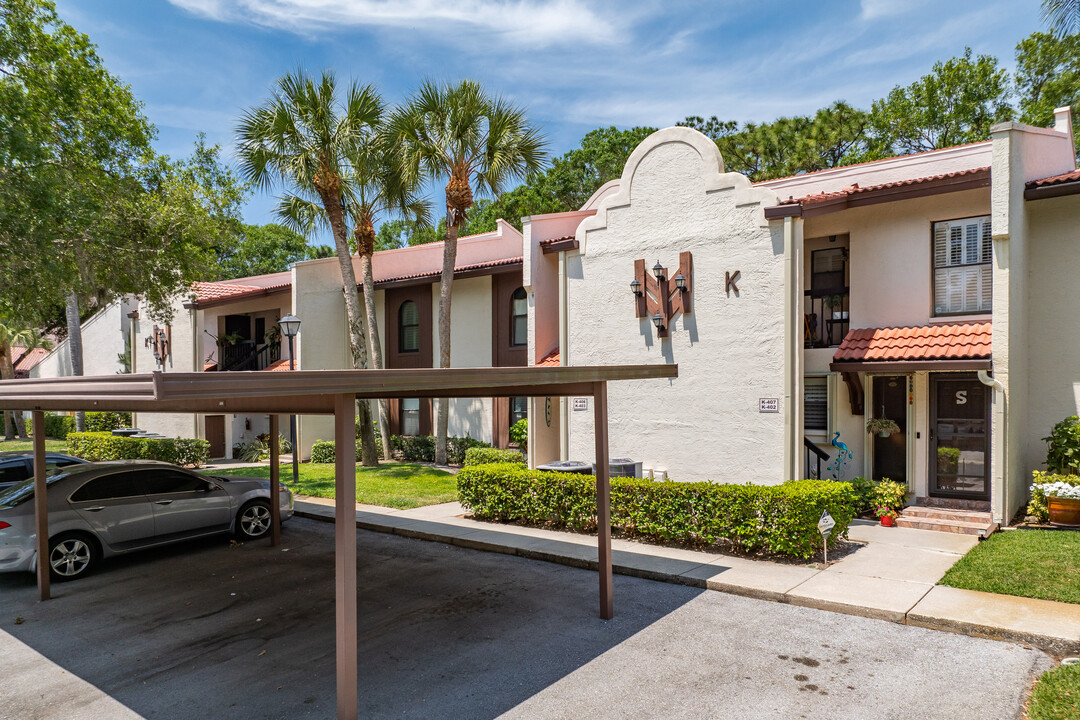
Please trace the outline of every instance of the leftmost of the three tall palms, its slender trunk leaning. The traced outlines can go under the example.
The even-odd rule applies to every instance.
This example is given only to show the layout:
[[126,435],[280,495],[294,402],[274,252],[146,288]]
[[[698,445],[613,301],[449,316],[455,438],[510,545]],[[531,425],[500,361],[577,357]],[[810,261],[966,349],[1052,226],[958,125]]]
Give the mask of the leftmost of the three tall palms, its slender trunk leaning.
[[[278,80],[265,104],[246,110],[237,128],[245,179],[265,189],[280,182],[289,194],[316,199],[325,214],[341,268],[354,368],[369,366],[366,316],[356,289],[342,203],[352,174],[349,159],[381,117],[382,103],[370,85],[351,83],[339,98],[333,72],[315,79],[297,69]],[[359,404],[357,423],[361,462],[376,465],[379,459],[369,403]]]

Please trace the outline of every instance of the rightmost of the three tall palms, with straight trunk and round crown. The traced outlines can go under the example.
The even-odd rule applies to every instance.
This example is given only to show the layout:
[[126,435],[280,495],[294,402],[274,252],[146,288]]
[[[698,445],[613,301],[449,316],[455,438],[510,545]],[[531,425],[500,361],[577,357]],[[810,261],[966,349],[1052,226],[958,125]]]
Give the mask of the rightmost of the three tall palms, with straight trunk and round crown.
[[[438,366],[450,366],[450,294],[458,229],[473,205],[473,187],[498,195],[505,184],[543,165],[546,141],[525,111],[488,95],[471,80],[428,81],[391,119],[399,151],[413,176],[446,181],[446,236],[438,291]],[[446,462],[449,403],[438,403],[435,462]]]

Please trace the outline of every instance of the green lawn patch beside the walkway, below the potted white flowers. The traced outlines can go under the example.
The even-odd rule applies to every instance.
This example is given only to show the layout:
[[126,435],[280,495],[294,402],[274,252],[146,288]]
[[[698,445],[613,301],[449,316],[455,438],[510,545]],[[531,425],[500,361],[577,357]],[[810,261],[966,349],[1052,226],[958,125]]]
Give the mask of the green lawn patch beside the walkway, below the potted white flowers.
[[996,532],[960,558],[943,585],[1080,603],[1080,532]]

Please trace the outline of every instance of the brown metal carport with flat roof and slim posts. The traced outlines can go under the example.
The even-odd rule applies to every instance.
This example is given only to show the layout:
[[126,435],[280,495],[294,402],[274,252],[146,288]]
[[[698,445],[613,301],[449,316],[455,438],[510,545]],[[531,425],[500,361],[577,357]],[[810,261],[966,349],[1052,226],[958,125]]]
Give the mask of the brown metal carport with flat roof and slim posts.
[[33,411],[38,587],[50,597],[44,412],[237,412],[271,417],[271,542],[279,542],[276,416],[333,415],[336,445],[335,613],[337,716],[356,718],[355,400],[406,397],[592,396],[596,440],[600,617],[615,613],[608,478],[607,383],[678,377],[677,365],[191,372],[0,381],[0,410]]

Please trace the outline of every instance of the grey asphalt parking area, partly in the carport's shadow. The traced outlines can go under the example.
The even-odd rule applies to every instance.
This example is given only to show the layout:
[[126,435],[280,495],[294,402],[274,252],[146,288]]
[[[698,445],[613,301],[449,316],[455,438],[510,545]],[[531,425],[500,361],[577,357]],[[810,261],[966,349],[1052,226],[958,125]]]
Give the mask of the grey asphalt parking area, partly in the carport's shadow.
[[[333,526],[201,541],[36,599],[0,575],[0,718],[330,718]],[[360,532],[361,717],[1016,718],[989,640]],[[58,667],[57,667],[58,666]],[[60,675],[63,692],[50,685]]]

